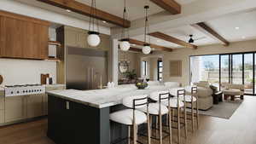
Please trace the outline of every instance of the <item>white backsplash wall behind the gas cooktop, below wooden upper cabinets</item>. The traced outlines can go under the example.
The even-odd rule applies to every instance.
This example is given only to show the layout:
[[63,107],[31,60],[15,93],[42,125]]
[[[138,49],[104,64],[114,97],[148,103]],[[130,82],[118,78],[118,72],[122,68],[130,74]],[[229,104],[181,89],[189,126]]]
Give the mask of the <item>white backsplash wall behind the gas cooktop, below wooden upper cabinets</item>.
[[56,62],[46,60],[0,59],[3,85],[40,84],[41,73],[49,73],[56,80]]

